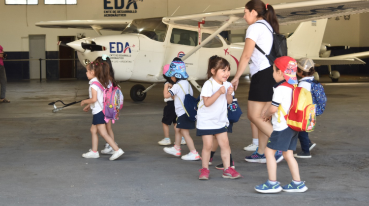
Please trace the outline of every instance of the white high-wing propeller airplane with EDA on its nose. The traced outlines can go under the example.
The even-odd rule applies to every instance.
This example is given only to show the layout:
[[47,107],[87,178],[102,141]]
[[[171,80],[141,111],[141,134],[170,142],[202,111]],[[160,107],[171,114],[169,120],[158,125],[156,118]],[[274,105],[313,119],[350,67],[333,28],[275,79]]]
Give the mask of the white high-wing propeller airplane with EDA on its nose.
[[[365,64],[360,52],[329,57],[322,45],[327,18],[369,11],[368,0],[310,0],[273,5],[279,25],[301,23],[287,39],[288,55],[299,59],[309,57],[318,65]],[[99,36],[80,39],[67,45],[78,51],[82,65],[102,54],[110,56],[115,77],[120,81],[153,83],[140,84],[130,90],[133,101],[143,101],[157,83],[164,82],[162,70],[174,57],[186,64],[189,81],[199,91],[196,80],[206,79],[207,59],[212,55],[226,58],[231,64],[231,76],[241,57],[244,43],[232,44],[219,33],[224,30],[247,28],[244,8],[191,14],[185,16],[136,19],[39,22],[36,26],[51,28],[93,29]],[[100,30],[122,31],[120,35],[102,36]],[[328,48],[329,49],[329,48]],[[359,58],[358,58],[359,57]],[[333,81],[339,73],[330,71]],[[249,74],[247,67],[243,75]]]

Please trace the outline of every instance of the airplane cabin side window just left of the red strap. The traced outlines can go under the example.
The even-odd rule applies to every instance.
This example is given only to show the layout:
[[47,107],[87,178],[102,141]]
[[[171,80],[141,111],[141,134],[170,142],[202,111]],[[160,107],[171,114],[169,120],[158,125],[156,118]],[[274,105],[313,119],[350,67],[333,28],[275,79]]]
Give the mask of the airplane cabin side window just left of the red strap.
[[197,46],[197,39],[197,31],[173,28],[170,43],[195,47]]

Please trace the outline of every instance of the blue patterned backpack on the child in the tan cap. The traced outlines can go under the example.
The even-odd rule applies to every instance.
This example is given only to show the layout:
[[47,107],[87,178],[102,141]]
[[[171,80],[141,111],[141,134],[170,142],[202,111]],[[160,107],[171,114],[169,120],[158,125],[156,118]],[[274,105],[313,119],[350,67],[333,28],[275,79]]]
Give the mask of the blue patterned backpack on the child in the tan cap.
[[316,104],[316,116],[321,115],[324,112],[325,105],[327,103],[327,96],[325,95],[323,85],[317,82],[315,79],[302,80],[311,84],[311,97],[312,103]]

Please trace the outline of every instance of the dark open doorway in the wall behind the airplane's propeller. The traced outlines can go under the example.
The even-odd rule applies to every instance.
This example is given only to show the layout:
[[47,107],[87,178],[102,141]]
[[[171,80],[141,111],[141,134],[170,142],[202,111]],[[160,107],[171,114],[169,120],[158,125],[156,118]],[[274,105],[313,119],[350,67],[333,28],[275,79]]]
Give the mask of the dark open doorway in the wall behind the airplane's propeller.
[[[74,36],[59,36],[59,41],[69,43],[75,41]],[[59,46],[60,59],[74,59],[74,50],[70,47]],[[74,60],[60,60],[59,61],[59,78],[75,78],[76,67]]]

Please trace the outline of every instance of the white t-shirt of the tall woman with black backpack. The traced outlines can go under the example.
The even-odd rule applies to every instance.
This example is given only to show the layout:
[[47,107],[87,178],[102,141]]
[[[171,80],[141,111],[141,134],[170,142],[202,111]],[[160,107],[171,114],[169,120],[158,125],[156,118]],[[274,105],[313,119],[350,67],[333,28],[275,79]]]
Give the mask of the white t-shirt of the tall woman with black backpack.
[[[273,28],[265,20],[259,20],[256,22],[264,23],[266,26],[260,23],[254,23],[248,26],[246,31],[246,39],[251,39],[257,44],[257,46],[260,47],[261,50],[263,50],[266,54],[269,54],[273,45],[273,34],[271,32],[273,31]],[[251,61],[249,62],[251,77],[257,72],[270,66],[271,65],[269,64],[268,58],[258,49],[254,48],[254,51],[251,54]]]

